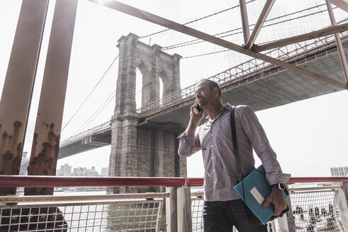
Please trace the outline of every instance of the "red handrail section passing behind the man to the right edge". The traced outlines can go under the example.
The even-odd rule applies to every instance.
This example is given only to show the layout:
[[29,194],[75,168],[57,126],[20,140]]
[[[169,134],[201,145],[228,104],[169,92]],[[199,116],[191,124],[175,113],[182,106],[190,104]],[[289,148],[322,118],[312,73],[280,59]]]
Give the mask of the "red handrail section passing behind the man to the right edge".
[[[313,182],[348,182],[347,177],[315,177],[315,178],[290,178],[286,184]],[[199,187],[204,185],[203,178],[186,178],[188,187]]]

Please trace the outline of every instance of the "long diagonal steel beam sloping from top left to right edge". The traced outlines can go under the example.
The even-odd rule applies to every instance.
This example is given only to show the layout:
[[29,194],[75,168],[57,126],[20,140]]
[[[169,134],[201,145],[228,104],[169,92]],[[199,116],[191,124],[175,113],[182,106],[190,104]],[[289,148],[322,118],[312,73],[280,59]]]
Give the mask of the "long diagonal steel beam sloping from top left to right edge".
[[254,57],[256,59],[261,59],[265,62],[269,62],[271,64],[275,64],[277,66],[281,66],[284,69],[289,69],[291,71],[296,71],[299,74],[303,74],[306,76],[310,76],[314,79],[318,79],[319,81],[323,81],[325,83],[330,83],[334,86],[337,86],[339,88],[344,88],[344,89],[348,89],[348,86],[346,83],[341,83],[339,81],[335,81],[332,79],[327,78],[326,76],[322,76],[320,74],[315,74],[313,71],[308,71],[305,69],[302,69],[298,66],[294,66],[292,64],[288,64],[286,62],[282,62],[281,60],[278,59],[274,59],[272,57],[268,57],[264,54],[260,54],[260,53],[254,53],[251,52],[249,50],[245,50],[243,47],[236,45],[232,42],[228,42],[226,40],[220,39],[218,37],[214,37],[213,35],[209,35],[207,33],[203,33],[199,30],[193,29],[193,28],[189,28],[186,25],[181,25],[179,23],[176,23],[174,21],[169,21],[166,18],[162,18],[159,16],[156,16],[155,14],[149,13],[147,11],[142,11],[138,8],[135,8],[133,6],[128,6],[127,4],[123,4],[120,3],[119,1],[103,1],[102,3],[98,0],[89,0],[92,1],[96,4],[101,4],[103,6],[106,6],[108,8],[112,8],[116,11],[120,11],[123,13],[127,13],[130,16],[135,16],[137,18],[141,18],[145,21],[149,21],[151,23],[156,23],[158,25],[162,25],[166,28],[172,29],[172,30],[176,30],[180,33],[184,33],[186,35],[191,35],[193,37],[196,37],[198,39],[201,40],[205,40],[207,42],[211,42],[215,45],[219,45],[221,47],[225,47],[228,48],[230,50],[233,50],[235,52],[240,52],[242,54],[246,54],[249,57]]

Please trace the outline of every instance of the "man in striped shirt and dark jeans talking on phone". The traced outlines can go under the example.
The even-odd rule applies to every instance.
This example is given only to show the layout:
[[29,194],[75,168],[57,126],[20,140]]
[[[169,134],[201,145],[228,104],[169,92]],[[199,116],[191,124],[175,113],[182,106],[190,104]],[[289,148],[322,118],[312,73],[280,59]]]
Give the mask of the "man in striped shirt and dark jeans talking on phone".
[[[179,137],[179,155],[191,156],[202,150],[205,201],[203,205],[203,231],[229,232],[233,226],[240,232],[263,232],[266,226],[254,226],[246,219],[242,200],[234,190],[237,184],[235,154],[233,153],[230,129],[230,110],[232,105],[223,105],[218,83],[203,79],[196,86],[196,103],[191,106],[190,122]],[[201,107],[198,112],[197,105]],[[207,112],[207,122],[198,127]],[[283,190],[279,183],[286,182],[289,174],[284,174],[271,149],[264,129],[257,120],[252,108],[237,105],[235,108],[235,127],[242,175],[251,173],[254,168],[252,149],[262,161],[266,179],[272,186],[264,207],[274,204],[274,215],[286,209]]]

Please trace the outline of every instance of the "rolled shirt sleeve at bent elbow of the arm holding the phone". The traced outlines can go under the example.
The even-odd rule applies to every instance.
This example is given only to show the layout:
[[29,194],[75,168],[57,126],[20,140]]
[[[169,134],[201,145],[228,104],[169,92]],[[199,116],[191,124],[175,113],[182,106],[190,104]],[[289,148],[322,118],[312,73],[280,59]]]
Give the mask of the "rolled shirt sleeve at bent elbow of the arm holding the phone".
[[179,156],[189,157],[193,155],[193,153],[196,153],[197,151],[202,149],[201,142],[199,141],[198,131],[199,127],[194,135],[186,137],[186,134],[184,132],[178,137],[180,142],[178,150]]

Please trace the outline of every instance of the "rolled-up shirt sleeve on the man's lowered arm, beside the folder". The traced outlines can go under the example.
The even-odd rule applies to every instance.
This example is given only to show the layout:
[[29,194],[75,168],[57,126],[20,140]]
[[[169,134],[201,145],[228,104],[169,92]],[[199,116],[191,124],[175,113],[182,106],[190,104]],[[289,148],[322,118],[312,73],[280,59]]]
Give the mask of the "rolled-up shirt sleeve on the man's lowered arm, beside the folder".
[[281,166],[276,159],[276,153],[271,148],[266,133],[259,123],[254,110],[249,106],[242,108],[242,115],[240,117],[242,127],[247,135],[247,138],[252,143],[254,151],[262,161],[264,170],[266,171],[266,179],[269,185],[274,185],[279,182],[286,182],[291,175],[283,173]]

